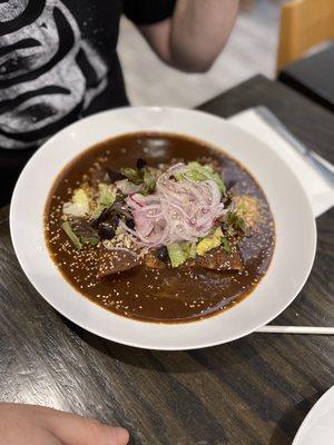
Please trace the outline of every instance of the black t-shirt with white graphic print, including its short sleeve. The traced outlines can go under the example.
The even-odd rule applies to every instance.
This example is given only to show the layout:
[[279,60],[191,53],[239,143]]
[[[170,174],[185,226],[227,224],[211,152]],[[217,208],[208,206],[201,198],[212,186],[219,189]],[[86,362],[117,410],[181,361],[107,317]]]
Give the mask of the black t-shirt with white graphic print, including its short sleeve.
[[0,151],[31,151],[82,116],[127,105],[120,16],[159,22],[175,1],[0,1]]

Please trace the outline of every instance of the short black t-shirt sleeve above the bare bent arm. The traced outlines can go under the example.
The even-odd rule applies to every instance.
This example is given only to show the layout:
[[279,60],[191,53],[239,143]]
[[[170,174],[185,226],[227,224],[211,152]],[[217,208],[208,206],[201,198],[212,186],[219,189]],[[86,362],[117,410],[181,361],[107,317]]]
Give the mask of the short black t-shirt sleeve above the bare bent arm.
[[176,0],[124,0],[124,13],[136,24],[153,24],[173,16]]

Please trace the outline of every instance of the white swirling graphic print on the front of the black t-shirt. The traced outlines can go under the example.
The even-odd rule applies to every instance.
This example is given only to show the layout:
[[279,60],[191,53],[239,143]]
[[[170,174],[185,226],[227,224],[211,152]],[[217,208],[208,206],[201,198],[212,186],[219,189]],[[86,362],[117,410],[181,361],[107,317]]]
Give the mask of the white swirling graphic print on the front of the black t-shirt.
[[60,0],[0,2],[0,147],[41,144],[107,87],[107,65]]

